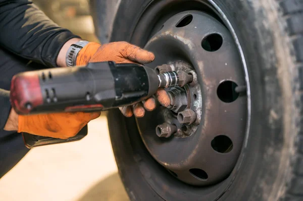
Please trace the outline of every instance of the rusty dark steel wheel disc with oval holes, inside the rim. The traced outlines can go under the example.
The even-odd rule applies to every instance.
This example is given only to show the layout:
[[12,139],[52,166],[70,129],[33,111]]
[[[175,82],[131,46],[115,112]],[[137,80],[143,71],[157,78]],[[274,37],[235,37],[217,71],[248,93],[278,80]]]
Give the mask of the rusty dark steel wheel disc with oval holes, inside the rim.
[[[232,36],[208,14],[187,11],[167,20],[145,48],[156,55],[150,68],[168,64],[193,75],[184,88],[170,89],[179,108],[158,107],[136,119],[147,150],[183,182],[220,182],[236,164],[246,129],[247,99],[235,92],[245,86],[244,72]],[[196,113],[190,125],[177,119],[176,112],[184,109]],[[169,138],[156,135],[156,126],[164,122],[177,127]]]

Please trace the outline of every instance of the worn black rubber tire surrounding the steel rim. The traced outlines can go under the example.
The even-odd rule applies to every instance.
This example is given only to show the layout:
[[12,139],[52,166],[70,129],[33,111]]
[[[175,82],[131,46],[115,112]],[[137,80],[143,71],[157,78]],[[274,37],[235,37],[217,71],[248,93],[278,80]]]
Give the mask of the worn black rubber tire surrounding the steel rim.
[[[130,41],[143,8],[151,2],[121,1],[112,41]],[[214,2],[228,15],[243,48],[252,111],[241,168],[219,200],[303,200],[303,1]],[[134,119],[112,110],[108,122],[119,173],[131,200],[184,200],[166,184],[164,192],[148,184],[161,174],[149,175],[150,168],[158,167],[147,162],[153,159],[140,142]]]

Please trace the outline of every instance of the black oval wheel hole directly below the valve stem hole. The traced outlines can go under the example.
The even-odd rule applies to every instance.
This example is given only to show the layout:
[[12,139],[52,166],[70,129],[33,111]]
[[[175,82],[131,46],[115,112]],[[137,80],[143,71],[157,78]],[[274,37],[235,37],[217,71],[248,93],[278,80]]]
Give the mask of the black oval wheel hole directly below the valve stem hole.
[[228,153],[232,150],[233,144],[230,138],[224,135],[215,137],[211,142],[212,148],[219,153]]

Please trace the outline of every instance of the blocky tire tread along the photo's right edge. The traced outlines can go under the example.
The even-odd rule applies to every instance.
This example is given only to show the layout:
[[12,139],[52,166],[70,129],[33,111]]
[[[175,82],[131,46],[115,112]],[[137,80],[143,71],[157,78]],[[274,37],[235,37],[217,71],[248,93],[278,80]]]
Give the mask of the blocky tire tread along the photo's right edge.
[[[302,0],[282,0],[279,1],[282,15],[286,21],[286,31],[294,48],[294,61],[303,61],[303,1]],[[298,79],[294,79],[294,94],[297,96],[296,107],[301,120],[297,123],[298,133],[295,142],[295,153],[292,155],[291,176],[286,188],[285,201],[303,200],[303,66],[297,68]]]

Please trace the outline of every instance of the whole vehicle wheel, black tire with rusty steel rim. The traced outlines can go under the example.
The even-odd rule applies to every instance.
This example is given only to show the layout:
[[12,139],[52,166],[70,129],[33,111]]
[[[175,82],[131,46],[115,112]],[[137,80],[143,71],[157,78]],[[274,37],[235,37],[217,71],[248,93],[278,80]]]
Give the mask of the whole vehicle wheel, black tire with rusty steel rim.
[[108,113],[131,200],[303,200],[302,12],[300,0],[121,1],[111,41],[194,78],[170,90],[175,107]]

